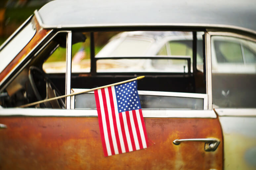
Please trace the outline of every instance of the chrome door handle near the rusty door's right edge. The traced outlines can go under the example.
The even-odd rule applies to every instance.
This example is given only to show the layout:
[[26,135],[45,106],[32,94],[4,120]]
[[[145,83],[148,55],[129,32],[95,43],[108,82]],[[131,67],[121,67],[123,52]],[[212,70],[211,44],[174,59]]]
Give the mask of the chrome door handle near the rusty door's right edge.
[[189,141],[198,141],[198,142],[205,142],[204,150],[215,151],[220,144],[220,140],[213,139],[213,138],[192,138],[192,139],[175,139],[173,141],[174,145],[179,145],[181,142],[189,142]]

